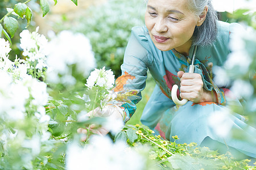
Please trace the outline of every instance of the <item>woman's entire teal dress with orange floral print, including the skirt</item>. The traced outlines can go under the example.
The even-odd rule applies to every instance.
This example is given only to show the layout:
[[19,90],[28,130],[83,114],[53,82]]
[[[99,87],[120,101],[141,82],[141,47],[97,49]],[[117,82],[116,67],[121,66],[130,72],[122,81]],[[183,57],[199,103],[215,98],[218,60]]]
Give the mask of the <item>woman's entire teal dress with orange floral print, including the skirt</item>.
[[[146,86],[149,70],[156,86],[142,113],[142,124],[170,141],[172,135],[177,135],[180,138],[179,143],[196,142],[198,145],[208,146],[205,140],[211,139],[256,158],[256,137],[253,135],[256,134],[256,130],[247,125],[241,115],[224,114],[228,108],[227,101],[236,99],[228,95],[228,88],[218,87],[213,82],[212,66],[224,65],[230,53],[229,40],[232,39],[234,28],[241,27],[241,25],[225,22],[218,22],[217,25],[217,39],[212,45],[197,46],[195,61],[195,73],[201,75],[205,90],[213,90],[218,100],[217,103],[195,104],[188,101],[181,107],[174,104],[171,98],[172,86],[180,85],[180,79],[177,77],[178,71],[188,72],[194,46],[191,46],[188,57],[175,49],[163,52],[155,47],[146,27],[134,27],[131,31],[121,66],[122,76],[116,80],[113,89],[118,92],[118,95],[110,103],[114,104],[123,114],[123,121],[128,121],[136,110],[135,104],[141,100],[141,91]],[[213,117],[223,116],[225,116],[224,122],[217,126],[218,128],[224,126],[221,132],[228,132],[226,134],[220,134],[220,131],[216,131],[212,125]],[[229,129],[229,126],[232,128]],[[232,130],[243,130],[242,133],[246,135],[246,139],[251,140],[242,141],[232,138],[230,136]]]

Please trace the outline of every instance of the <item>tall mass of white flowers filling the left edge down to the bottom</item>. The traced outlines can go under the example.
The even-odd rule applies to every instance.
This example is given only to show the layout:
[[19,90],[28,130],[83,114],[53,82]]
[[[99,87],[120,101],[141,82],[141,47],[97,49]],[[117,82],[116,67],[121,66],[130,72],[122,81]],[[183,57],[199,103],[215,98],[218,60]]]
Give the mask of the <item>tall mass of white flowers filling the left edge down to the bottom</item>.
[[10,44],[4,39],[0,39],[0,52],[0,152],[4,155],[0,167],[32,169],[32,162],[52,148],[47,127],[50,117],[44,108],[47,86],[27,74],[26,61],[10,61]]

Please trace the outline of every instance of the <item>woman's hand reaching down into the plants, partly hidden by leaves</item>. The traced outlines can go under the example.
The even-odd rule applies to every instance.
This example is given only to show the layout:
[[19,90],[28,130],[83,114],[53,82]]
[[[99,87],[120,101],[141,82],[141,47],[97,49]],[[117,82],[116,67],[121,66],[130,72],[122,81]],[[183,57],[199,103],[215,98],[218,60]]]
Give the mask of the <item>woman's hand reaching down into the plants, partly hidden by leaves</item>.
[[[114,120],[117,121],[123,121],[123,118],[121,114],[119,113],[118,109],[115,108],[113,105],[106,105],[103,109],[96,108],[93,111],[88,112],[86,117],[108,117],[108,118],[113,118]],[[80,121],[80,120],[79,120]],[[90,132],[93,134],[98,134],[98,135],[106,135],[109,133],[110,129],[104,126],[99,127],[96,124],[90,125]],[[85,141],[88,137],[88,128],[79,128],[77,129],[77,133],[84,134],[83,137],[81,138],[81,141]]]

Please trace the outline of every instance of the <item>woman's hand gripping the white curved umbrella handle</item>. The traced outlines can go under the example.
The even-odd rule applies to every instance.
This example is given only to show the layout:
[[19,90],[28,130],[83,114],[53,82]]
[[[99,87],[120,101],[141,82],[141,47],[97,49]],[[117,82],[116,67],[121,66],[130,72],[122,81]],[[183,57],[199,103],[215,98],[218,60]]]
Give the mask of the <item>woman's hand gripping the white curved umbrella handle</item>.
[[204,83],[200,74],[179,71],[177,76],[180,78],[181,98],[188,99],[193,103],[216,102],[215,95],[203,88]]

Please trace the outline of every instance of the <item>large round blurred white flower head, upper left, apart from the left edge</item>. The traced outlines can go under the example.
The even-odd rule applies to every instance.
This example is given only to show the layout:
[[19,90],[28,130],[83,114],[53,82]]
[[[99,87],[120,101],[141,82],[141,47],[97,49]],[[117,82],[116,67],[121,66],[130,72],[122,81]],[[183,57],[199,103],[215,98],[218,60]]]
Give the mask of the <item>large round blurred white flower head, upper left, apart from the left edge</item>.
[[96,66],[90,41],[82,33],[61,31],[49,41],[47,49],[49,83],[73,85],[76,83],[74,71],[86,77]]

